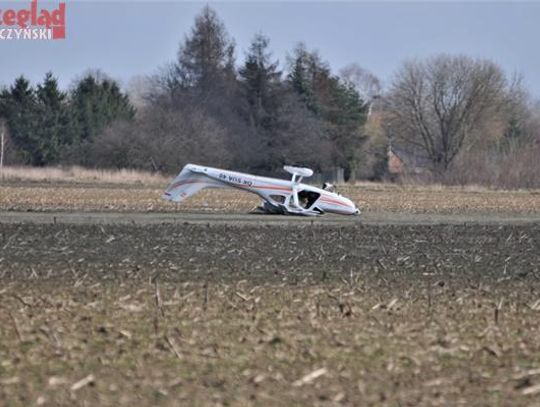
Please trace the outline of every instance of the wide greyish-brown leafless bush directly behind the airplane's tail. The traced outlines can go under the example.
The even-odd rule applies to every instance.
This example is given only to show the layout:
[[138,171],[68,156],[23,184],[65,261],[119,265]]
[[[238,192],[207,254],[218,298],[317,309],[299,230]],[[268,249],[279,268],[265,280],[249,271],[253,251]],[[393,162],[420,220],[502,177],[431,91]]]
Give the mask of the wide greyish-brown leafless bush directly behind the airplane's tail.
[[105,129],[82,153],[97,167],[172,174],[191,161],[228,166],[228,138],[226,130],[198,107],[151,106],[134,121],[118,121]]

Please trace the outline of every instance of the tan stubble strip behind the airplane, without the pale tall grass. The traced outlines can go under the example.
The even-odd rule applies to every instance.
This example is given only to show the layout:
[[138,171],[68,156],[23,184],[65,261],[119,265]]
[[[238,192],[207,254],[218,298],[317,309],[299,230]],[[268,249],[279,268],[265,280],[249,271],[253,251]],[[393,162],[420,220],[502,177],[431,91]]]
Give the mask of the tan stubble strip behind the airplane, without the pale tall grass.
[[[174,205],[160,199],[165,186],[4,182],[0,184],[0,210],[245,213],[260,203],[254,195],[223,189],[202,191],[182,205]],[[363,212],[540,214],[540,191],[366,183],[342,186],[340,192]]]

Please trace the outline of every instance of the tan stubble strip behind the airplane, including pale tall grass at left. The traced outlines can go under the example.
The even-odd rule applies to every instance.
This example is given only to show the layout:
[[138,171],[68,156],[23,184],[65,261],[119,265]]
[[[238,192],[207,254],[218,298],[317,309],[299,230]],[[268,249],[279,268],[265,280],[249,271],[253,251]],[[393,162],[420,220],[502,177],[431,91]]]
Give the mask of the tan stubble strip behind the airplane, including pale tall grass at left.
[[[172,177],[137,171],[81,168],[6,168],[0,180],[0,210],[248,212],[260,200],[232,189],[205,190],[182,204],[160,199]],[[362,211],[426,214],[531,214],[540,212],[540,190],[400,185],[341,185]]]

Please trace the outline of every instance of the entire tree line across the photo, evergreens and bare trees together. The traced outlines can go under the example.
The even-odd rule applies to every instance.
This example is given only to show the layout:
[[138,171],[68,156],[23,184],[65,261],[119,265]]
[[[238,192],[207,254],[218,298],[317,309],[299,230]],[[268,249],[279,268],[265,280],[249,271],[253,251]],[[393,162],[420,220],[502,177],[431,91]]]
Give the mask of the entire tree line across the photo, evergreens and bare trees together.
[[0,92],[6,162],[165,173],[197,162],[263,174],[296,163],[341,167],[353,180],[387,176],[395,149],[419,157],[432,177],[459,182],[480,161],[484,171],[496,164],[504,172],[508,157],[537,151],[540,138],[540,109],[519,78],[491,61],[409,60],[385,91],[357,64],[334,74],[304,44],[281,67],[262,34],[238,63],[234,40],[208,6],[176,59],[143,82],[135,108],[100,73],[66,92],[51,73],[36,87],[16,79]]

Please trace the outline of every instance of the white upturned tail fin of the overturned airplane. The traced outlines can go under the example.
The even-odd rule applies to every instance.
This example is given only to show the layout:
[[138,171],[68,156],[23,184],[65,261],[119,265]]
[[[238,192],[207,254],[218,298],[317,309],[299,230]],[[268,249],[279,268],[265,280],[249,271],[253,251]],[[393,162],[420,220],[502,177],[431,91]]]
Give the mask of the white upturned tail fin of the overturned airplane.
[[182,202],[204,188],[222,188],[219,181],[198,172],[196,166],[187,164],[169,184],[161,197],[168,201]]

